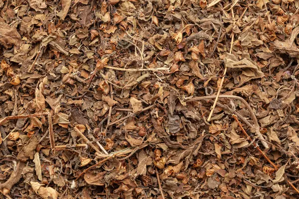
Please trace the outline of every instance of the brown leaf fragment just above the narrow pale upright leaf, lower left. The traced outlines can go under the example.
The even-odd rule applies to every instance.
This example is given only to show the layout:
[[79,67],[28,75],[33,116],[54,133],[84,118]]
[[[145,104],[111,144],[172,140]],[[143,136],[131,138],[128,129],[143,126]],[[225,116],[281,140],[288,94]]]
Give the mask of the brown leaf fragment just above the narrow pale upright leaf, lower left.
[[28,158],[31,160],[34,157],[34,151],[38,144],[38,139],[35,135],[32,135],[31,138],[28,140],[27,144],[23,146],[21,151],[17,154],[17,159],[23,162],[27,161]]

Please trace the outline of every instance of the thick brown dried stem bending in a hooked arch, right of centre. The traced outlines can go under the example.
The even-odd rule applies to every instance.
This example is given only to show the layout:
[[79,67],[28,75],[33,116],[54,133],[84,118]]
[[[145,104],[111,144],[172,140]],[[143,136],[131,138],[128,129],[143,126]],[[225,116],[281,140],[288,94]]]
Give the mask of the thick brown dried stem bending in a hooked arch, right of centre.
[[[187,100],[187,102],[190,102],[190,101],[197,101],[197,100],[208,100],[208,99],[215,99],[217,96],[203,96],[203,97],[195,97],[195,98],[192,98],[190,100]],[[246,108],[249,110],[250,114],[251,114],[251,117],[254,121],[254,130],[256,132],[256,134],[259,136],[259,139],[261,140],[262,144],[264,145],[264,147],[266,149],[269,148],[268,144],[266,143],[265,141],[265,138],[263,137],[262,133],[260,132],[260,125],[259,125],[259,122],[258,122],[258,119],[257,117],[255,116],[253,110],[251,109],[250,105],[247,103],[246,100],[244,100],[243,98],[239,97],[239,96],[229,96],[229,95],[222,95],[222,96],[219,96],[218,98],[227,98],[227,99],[234,99],[234,100],[241,100],[242,103],[244,103],[244,105],[246,106]]]

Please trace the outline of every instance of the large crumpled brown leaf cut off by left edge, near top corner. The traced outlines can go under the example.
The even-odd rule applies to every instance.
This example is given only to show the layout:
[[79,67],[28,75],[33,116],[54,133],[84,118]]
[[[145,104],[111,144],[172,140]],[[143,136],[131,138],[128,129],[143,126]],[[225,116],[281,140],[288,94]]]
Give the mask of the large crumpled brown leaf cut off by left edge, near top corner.
[[5,48],[12,45],[18,45],[21,41],[21,35],[14,26],[10,27],[7,23],[0,22],[0,44]]

